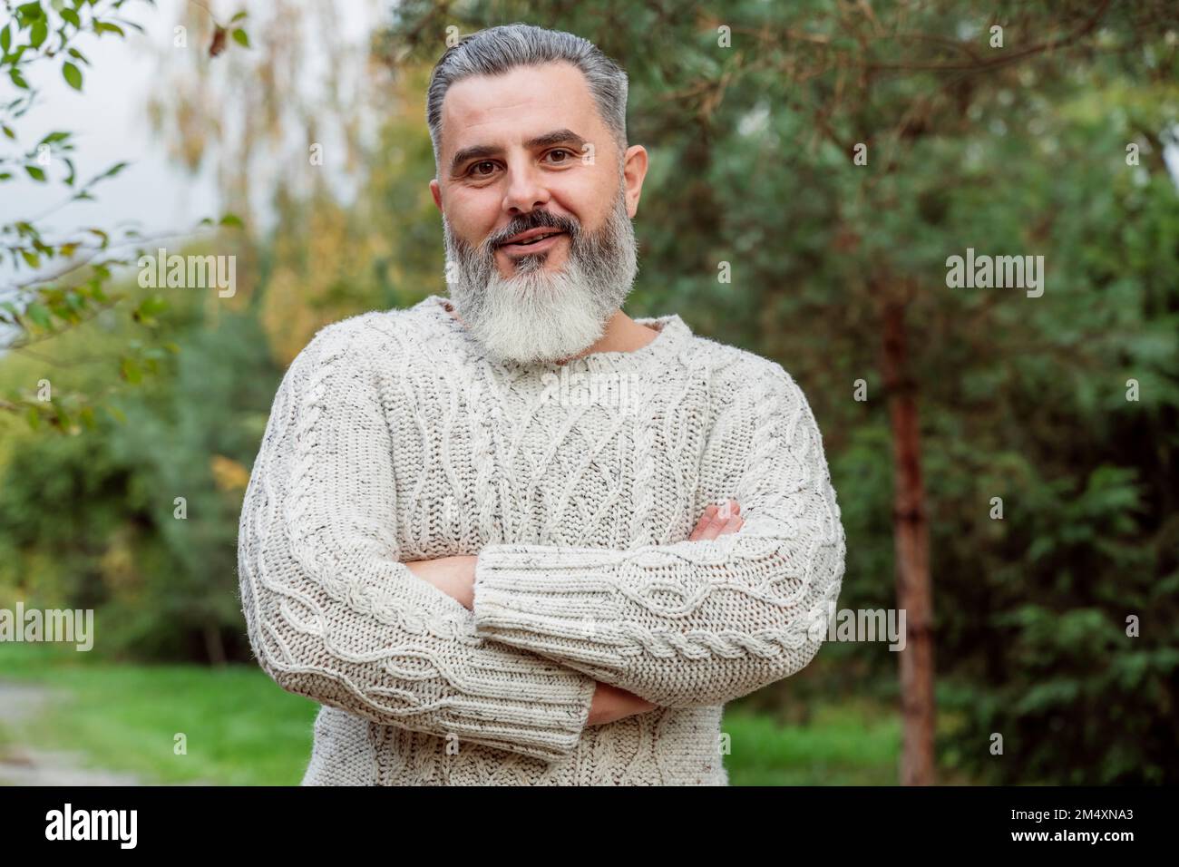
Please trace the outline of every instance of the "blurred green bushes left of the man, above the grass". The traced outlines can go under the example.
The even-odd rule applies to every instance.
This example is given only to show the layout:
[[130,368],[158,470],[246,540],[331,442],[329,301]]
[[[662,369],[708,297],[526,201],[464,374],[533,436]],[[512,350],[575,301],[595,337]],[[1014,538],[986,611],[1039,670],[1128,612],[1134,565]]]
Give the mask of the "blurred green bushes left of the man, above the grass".
[[[137,309],[156,310],[152,298]],[[159,354],[157,369],[143,388],[112,398],[118,418],[100,416],[80,436],[6,436],[0,605],[94,607],[104,656],[245,659],[237,515],[282,370],[249,310],[219,313],[213,327],[206,306],[182,296],[170,315],[183,352],[144,349]],[[73,334],[61,348],[100,355],[130,328]],[[0,366],[7,379],[35,369]],[[75,375],[55,381],[90,389],[101,374]]]

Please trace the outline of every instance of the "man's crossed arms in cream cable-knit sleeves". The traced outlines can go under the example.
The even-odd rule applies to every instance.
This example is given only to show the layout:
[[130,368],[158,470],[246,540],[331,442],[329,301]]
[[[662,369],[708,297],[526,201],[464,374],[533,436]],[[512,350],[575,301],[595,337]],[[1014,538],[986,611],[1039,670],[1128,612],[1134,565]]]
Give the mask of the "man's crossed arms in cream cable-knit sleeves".
[[808,628],[838,592],[843,531],[780,368],[732,399],[703,455],[706,497],[740,504],[732,527],[631,551],[489,545],[457,569],[401,559],[395,444],[354,352],[325,329],[291,363],[243,504],[248,635],[284,689],[554,761],[586,725],[724,703],[817,652]]

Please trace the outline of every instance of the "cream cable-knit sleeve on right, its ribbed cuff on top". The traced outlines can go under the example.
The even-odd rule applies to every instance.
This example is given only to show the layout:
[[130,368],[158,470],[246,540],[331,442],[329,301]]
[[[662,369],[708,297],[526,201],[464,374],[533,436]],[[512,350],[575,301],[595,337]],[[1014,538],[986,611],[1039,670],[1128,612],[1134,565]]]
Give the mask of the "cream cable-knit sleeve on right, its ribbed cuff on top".
[[802,389],[772,362],[756,380],[726,399],[702,458],[699,511],[731,497],[740,531],[627,551],[485,547],[479,633],[670,708],[723,704],[809,664],[842,583],[843,526]]

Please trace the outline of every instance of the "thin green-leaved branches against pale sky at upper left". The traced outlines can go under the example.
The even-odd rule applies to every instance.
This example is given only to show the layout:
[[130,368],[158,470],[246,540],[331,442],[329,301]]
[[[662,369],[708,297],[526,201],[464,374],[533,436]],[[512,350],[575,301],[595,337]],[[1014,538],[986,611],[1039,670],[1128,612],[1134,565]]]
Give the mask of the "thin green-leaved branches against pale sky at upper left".
[[[143,2],[154,5],[154,0]],[[0,75],[6,75],[19,91],[15,99],[0,103],[0,131],[8,142],[19,144],[18,120],[40,96],[25,75],[29,67],[55,65],[60,60],[66,84],[83,91],[84,75],[78,64],[88,66],[90,60],[77,47],[79,40],[100,38],[104,33],[124,38],[124,28],[144,32],[139,24],[121,17],[126,4],[127,0],[73,0],[68,6],[61,1],[7,5],[11,18],[0,25]],[[232,20],[244,17],[245,13],[238,13]],[[236,29],[233,37],[238,44],[248,45],[243,29]],[[5,326],[0,331],[0,349],[25,350],[42,344],[114,308],[125,296],[105,291],[113,271],[138,262],[145,252],[143,244],[149,238],[134,228],[112,232],[83,226],[60,237],[46,228],[51,215],[72,202],[93,201],[97,186],[129,165],[117,162],[79,184],[73,152],[73,133],[68,131],[50,132],[24,152],[0,150],[0,184],[27,178],[46,186],[57,183],[67,193],[64,201],[35,217],[0,224],[0,257],[7,254],[15,275],[11,282],[0,282],[0,326]],[[226,215],[220,225],[242,223]],[[171,235],[174,232],[165,232]],[[153,303],[156,313],[166,307],[159,300]],[[131,316],[146,329],[156,327],[154,316],[139,309]],[[144,374],[153,372],[159,360],[158,355],[140,355],[139,346],[141,341],[132,341],[129,352],[112,366],[130,385],[143,382]],[[84,425],[92,426],[95,408],[113,412],[101,407],[95,395],[85,393],[59,395],[48,407],[44,400],[21,392],[0,398],[0,410],[25,418],[32,429],[41,429],[46,420],[46,427],[62,433],[78,429],[73,412]]]

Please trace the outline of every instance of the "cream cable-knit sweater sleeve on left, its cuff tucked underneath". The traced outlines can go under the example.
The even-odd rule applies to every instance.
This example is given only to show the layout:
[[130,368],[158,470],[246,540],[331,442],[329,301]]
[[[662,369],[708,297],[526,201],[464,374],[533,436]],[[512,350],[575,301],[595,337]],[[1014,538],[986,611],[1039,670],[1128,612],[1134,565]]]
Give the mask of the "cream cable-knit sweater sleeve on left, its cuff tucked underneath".
[[399,560],[391,409],[358,343],[321,330],[275,396],[238,536],[253,655],[283,689],[377,723],[568,755],[594,679],[483,641]]

